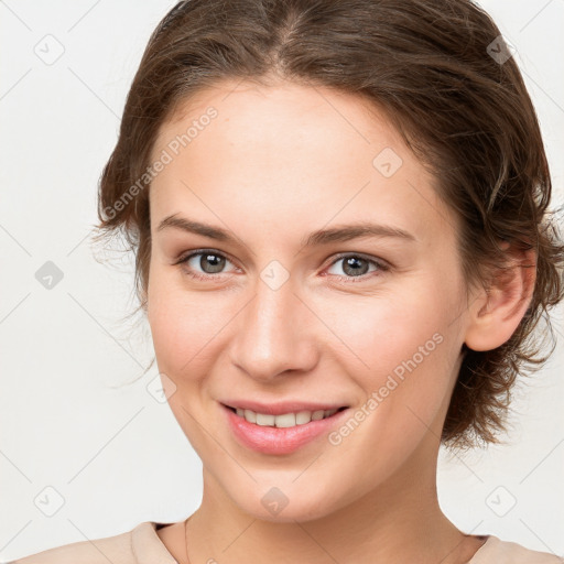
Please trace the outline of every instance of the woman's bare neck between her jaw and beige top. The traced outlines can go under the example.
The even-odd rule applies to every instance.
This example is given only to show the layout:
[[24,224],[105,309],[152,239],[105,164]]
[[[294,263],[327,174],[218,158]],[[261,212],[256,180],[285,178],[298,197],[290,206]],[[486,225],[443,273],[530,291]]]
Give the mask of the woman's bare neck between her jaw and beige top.
[[[415,459],[408,460],[393,477],[314,520],[279,522],[250,516],[204,468],[203,501],[188,523],[191,561],[238,564],[252,554],[253,561],[271,564],[468,562],[482,541],[463,534],[441,511],[438,442],[431,433],[425,441],[414,453]],[[434,464],[429,463],[430,447]]]

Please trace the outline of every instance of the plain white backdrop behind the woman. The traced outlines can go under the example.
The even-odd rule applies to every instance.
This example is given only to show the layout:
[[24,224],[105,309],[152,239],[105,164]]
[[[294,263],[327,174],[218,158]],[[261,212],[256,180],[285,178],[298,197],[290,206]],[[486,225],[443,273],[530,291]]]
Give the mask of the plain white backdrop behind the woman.
[[[97,261],[88,238],[124,97],[173,3],[0,2],[0,561],[142,521],[180,521],[199,505],[200,460],[152,393],[156,366],[141,377],[153,355],[147,323],[122,319],[137,305],[131,257]],[[556,207],[564,1],[481,6],[517,50]],[[442,507],[459,529],[556,554],[564,554],[562,312],[553,312],[556,352],[517,387],[506,444],[442,452],[438,474]]]

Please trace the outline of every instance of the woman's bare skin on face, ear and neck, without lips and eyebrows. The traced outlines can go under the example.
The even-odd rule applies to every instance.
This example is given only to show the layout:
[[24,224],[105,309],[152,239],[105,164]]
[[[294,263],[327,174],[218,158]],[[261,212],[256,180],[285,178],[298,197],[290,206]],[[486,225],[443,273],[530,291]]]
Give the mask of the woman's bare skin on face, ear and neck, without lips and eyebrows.
[[[153,158],[208,106],[217,118],[150,192],[147,314],[169,403],[204,468],[189,561],[468,562],[484,539],[464,534],[438,506],[441,430],[463,343],[487,350],[511,336],[534,269],[516,269],[489,297],[474,290],[467,299],[457,218],[383,113],[351,95],[218,84],[162,126]],[[390,177],[372,164],[384,148],[403,161]],[[158,230],[173,214],[237,241]],[[302,246],[316,229],[360,220],[402,228],[415,241]],[[206,273],[199,256],[176,264],[203,248],[227,259],[216,274],[204,264],[206,281],[188,275]],[[358,282],[336,260],[340,252],[391,268],[371,264]],[[276,290],[260,278],[272,260],[290,276]],[[241,446],[226,425],[218,402],[227,398],[327,400],[355,412],[434,334],[441,344],[337,446],[321,437],[290,455],[265,455]],[[289,500],[275,516],[261,503],[272,487]],[[187,562],[184,522],[159,535]]]

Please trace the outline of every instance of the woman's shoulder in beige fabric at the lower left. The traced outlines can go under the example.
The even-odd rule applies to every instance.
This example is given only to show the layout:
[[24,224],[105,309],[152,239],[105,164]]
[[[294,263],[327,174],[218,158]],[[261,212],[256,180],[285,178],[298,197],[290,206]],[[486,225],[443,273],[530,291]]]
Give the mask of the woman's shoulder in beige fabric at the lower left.
[[[159,523],[145,521],[131,531],[115,536],[65,544],[8,564],[142,564],[145,557],[152,556],[165,556],[161,560],[165,564],[170,553],[156,535],[156,525]],[[138,555],[142,555],[142,560]]]

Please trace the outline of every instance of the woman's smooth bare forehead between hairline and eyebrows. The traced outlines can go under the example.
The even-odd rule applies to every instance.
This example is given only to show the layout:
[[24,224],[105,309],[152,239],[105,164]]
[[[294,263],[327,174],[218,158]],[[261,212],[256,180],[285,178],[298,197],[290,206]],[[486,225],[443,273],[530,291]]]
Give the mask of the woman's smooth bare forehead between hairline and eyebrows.
[[203,90],[161,127],[153,159],[163,151],[172,161],[152,183],[152,216],[196,207],[208,218],[210,210],[252,215],[254,225],[280,229],[380,220],[419,239],[454,225],[435,180],[386,115],[328,88]]

